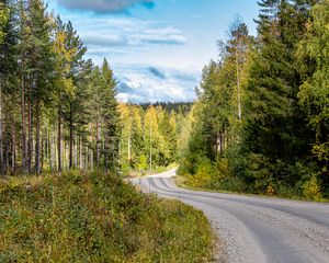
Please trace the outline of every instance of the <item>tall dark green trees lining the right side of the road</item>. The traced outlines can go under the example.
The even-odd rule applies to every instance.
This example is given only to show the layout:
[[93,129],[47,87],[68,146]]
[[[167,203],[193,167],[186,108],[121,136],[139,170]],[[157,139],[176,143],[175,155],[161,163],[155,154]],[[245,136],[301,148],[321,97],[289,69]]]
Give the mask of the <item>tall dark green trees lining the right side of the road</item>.
[[180,173],[195,186],[329,196],[329,1],[261,0],[204,68]]

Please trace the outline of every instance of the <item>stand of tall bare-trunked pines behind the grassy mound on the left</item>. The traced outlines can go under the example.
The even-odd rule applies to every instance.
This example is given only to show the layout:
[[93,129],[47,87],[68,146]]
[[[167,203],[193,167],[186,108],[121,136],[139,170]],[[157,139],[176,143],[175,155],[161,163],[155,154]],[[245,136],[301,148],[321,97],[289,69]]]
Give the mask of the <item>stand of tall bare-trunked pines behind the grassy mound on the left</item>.
[[42,0],[0,1],[1,173],[118,167],[116,82]]

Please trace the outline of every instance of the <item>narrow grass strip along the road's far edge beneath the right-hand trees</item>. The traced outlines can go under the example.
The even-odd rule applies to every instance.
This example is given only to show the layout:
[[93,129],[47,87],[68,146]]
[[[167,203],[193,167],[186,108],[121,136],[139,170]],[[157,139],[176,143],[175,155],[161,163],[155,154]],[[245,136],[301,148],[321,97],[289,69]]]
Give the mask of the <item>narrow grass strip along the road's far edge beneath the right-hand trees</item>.
[[201,191],[201,192],[208,192],[208,193],[219,193],[219,194],[235,194],[240,196],[250,196],[250,197],[261,197],[261,198],[268,198],[268,199],[291,199],[296,202],[311,202],[311,203],[329,203],[328,198],[319,198],[319,199],[311,199],[306,198],[298,195],[269,195],[269,194],[254,194],[254,193],[248,193],[248,192],[236,192],[236,191],[228,191],[228,190],[220,190],[220,188],[213,188],[213,187],[206,187],[206,186],[194,186],[193,183],[191,184],[189,182],[189,179],[182,175],[178,175],[174,178],[175,184],[185,190],[192,190],[192,191]]

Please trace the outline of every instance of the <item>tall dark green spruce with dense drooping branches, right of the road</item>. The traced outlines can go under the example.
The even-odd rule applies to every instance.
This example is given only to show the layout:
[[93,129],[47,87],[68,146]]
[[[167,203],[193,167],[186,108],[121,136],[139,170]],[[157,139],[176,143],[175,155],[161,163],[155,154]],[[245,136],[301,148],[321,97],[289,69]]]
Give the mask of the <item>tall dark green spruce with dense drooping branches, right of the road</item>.
[[286,168],[308,155],[310,141],[297,100],[302,80],[294,55],[307,15],[293,1],[263,0],[260,7],[259,48],[248,84],[242,151],[251,152],[250,175],[264,187],[273,178],[291,184],[298,181]]

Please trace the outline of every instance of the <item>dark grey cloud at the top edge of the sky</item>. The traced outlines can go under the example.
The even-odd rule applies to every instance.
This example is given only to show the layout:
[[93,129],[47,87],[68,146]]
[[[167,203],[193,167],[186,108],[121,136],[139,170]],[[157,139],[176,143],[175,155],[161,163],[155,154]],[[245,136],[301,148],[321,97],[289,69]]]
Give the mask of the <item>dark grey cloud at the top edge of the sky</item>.
[[135,4],[154,7],[154,0],[57,0],[69,10],[94,11],[97,13],[117,13]]

